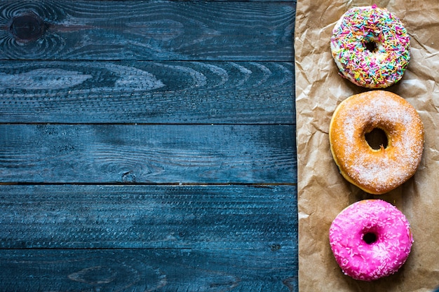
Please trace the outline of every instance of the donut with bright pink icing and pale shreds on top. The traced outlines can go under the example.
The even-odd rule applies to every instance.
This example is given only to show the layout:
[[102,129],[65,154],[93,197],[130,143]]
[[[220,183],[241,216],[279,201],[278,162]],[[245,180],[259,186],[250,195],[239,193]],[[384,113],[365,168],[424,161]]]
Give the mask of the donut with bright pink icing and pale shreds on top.
[[398,271],[413,242],[407,218],[383,200],[363,200],[346,207],[332,221],[329,237],[344,274],[363,281]]

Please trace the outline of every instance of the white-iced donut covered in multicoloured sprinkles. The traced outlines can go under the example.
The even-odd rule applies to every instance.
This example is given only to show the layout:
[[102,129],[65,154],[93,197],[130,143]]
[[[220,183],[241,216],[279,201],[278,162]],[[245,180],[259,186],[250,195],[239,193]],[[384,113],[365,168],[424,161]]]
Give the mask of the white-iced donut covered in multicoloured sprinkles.
[[403,23],[375,5],[346,11],[330,43],[339,74],[365,88],[398,82],[410,61],[410,38]]

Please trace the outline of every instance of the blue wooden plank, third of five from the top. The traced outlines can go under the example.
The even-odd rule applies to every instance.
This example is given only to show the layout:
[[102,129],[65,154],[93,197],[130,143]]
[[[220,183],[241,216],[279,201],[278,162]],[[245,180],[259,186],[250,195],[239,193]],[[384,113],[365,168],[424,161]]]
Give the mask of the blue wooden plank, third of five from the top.
[[292,125],[0,125],[3,183],[295,183]]

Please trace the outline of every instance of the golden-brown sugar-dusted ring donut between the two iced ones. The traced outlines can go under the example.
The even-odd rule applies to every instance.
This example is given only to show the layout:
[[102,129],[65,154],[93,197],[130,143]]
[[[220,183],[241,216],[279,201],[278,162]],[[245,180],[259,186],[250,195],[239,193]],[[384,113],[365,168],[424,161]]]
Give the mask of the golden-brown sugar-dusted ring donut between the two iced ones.
[[[366,135],[381,130],[387,139],[375,149]],[[367,193],[381,195],[417,171],[424,150],[424,125],[403,97],[371,90],[344,99],[330,121],[330,150],[344,178]]]

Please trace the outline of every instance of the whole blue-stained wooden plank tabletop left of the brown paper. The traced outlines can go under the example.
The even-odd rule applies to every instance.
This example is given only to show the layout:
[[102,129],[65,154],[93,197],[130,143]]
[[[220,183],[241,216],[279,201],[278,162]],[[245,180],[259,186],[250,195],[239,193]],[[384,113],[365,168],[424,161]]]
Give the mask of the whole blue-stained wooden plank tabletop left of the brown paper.
[[295,1],[0,1],[0,291],[297,291]]

